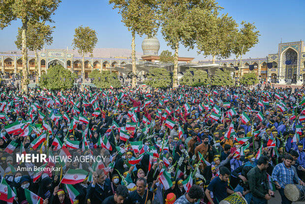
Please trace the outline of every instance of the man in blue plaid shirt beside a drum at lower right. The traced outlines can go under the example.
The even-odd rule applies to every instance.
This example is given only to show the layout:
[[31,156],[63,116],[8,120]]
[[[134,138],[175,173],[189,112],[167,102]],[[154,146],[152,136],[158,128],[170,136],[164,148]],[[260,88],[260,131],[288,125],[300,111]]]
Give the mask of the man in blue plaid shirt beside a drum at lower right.
[[291,164],[293,158],[290,155],[285,155],[284,162],[276,165],[272,172],[272,178],[274,183],[276,183],[276,188],[282,198],[282,204],[291,204],[292,201],[289,201],[285,194],[284,188],[287,184],[293,184],[294,180],[299,182],[301,185],[305,186],[305,183],[298,177],[295,171],[292,169]]

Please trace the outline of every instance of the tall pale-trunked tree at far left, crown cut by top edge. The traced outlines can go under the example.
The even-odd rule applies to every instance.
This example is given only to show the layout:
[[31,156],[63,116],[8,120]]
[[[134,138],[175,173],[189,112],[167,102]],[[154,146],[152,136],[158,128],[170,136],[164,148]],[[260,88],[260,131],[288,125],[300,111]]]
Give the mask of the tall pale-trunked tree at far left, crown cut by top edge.
[[1,0],[0,1],[0,29],[20,19],[22,22],[22,89],[28,93],[28,49],[27,30],[28,22],[49,21],[53,22],[51,15],[59,6],[61,0]]

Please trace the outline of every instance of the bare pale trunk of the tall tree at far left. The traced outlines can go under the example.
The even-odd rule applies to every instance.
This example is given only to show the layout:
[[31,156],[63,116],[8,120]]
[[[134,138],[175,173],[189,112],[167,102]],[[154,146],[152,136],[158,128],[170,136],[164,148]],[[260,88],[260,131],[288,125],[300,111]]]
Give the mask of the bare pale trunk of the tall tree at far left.
[[21,89],[28,94],[29,92],[29,72],[28,72],[28,48],[27,48],[27,30],[28,30],[28,19],[22,20],[22,76]]

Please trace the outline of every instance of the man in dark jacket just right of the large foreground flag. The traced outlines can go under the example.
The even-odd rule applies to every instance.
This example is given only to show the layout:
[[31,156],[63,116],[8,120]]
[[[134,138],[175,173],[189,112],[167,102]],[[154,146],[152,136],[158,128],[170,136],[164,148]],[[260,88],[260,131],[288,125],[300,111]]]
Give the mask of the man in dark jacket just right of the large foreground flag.
[[87,188],[87,199],[91,204],[101,204],[105,198],[113,195],[110,180],[106,178],[103,170],[96,170],[92,177],[93,181]]

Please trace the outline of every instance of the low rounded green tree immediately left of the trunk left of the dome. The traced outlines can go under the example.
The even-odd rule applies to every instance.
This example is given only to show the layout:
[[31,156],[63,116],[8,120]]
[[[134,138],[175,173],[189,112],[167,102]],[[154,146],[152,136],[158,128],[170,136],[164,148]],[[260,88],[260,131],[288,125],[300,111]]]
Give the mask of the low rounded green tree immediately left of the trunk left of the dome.
[[97,69],[94,69],[90,74],[90,78],[94,78],[93,84],[98,88],[110,88],[110,85],[113,88],[120,88],[121,81],[118,78],[116,73],[110,73],[110,71],[99,72]]

